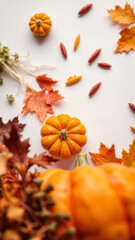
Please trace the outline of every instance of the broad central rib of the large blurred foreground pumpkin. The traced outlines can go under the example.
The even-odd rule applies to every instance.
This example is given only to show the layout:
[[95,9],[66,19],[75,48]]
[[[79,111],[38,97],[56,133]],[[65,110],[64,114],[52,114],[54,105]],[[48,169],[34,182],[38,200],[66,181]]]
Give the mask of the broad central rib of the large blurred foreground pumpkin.
[[104,171],[88,166],[76,168],[71,180],[77,239],[129,240],[120,199]]

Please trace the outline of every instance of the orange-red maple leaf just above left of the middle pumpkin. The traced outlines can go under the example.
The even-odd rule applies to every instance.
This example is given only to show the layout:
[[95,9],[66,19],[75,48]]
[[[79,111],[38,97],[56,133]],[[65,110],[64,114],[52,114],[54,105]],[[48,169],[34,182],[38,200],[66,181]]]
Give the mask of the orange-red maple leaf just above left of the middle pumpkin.
[[46,93],[45,89],[36,91],[31,88],[26,88],[27,97],[24,99],[25,106],[22,113],[35,112],[41,122],[44,122],[47,113],[54,114],[52,103],[57,102],[63,97],[58,94],[58,91],[51,91]]

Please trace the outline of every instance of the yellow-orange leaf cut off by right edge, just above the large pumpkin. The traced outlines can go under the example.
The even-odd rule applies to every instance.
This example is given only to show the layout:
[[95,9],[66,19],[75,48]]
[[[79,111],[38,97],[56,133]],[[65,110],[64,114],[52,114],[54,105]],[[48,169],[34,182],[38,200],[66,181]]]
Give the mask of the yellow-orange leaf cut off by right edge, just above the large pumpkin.
[[129,145],[129,152],[127,153],[124,149],[122,151],[123,165],[129,167],[135,167],[135,139],[132,144]]

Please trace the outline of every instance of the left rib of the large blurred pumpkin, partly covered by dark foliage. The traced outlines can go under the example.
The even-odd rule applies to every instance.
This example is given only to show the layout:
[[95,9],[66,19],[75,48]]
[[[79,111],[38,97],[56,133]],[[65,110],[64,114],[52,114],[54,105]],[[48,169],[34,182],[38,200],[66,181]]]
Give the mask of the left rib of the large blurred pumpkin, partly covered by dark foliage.
[[[53,169],[52,169],[53,171]],[[55,172],[56,171],[56,172]],[[53,174],[50,173],[49,170],[42,174],[43,183],[41,185],[41,189],[44,190],[47,183],[51,183],[54,186],[54,190],[49,193],[50,197],[53,197],[55,201],[55,205],[52,208],[53,212],[62,211],[63,213],[71,213],[70,210],[70,171],[62,170],[62,169],[55,169]],[[45,183],[44,183],[45,179]],[[47,179],[47,180],[46,180]],[[65,221],[62,223],[61,227],[58,229],[57,234],[61,235],[69,226],[73,226],[72,218],[69,221]],[[72,240],[77,240],[75,237]]]

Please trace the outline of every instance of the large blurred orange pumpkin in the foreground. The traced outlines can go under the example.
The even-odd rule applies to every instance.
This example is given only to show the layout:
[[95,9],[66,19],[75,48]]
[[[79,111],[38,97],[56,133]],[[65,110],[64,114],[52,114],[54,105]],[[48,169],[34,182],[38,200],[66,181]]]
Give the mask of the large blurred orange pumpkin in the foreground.
[[[72,216],[74,240],[135,239],[135,169],[120,164],[82,166],[42,174],[42,189],[52,183],[53,211]],[[62,225],[60,232],[66,226]]]

